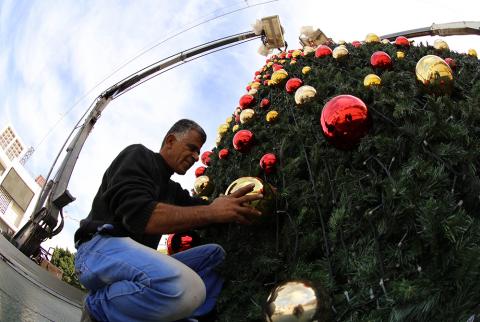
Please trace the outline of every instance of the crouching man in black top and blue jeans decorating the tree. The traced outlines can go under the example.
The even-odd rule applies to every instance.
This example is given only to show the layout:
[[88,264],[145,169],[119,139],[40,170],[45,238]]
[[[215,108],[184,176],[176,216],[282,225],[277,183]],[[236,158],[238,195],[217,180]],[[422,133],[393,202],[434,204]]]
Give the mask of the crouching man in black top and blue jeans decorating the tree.
[[[208,204],[172,181],[198,161],[203,129],[180,120],[160,152],[127,147],[105,171],[88,217],[75,233],[75,270],[89,290],[85,318],[98,321],[199,321],[215,307],[222,279],[219,245],[173,256],[156,251],[162,234],[214,223],[248,224],[260,212],[248,205],[253,186]],[[191,319],[189,319],[191,318]],[[183,320],[182,320],[183,319]]]

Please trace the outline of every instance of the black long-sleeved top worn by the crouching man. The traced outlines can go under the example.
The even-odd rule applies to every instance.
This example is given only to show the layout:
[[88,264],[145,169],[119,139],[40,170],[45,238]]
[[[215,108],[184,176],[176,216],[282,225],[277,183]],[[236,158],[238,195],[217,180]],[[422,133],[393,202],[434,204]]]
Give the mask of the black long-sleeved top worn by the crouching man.
[[158,202],[178,206],[207,204],[172,181],[172,174],[159,153],[141,144],[125,148],[105,171],[92,209],[75,232],[75,244],[92,238],[98,227],[112,224],[112,229],[106,231],[109,235],[129,236],[156,249],[161,235],[147,235],[144,231]]

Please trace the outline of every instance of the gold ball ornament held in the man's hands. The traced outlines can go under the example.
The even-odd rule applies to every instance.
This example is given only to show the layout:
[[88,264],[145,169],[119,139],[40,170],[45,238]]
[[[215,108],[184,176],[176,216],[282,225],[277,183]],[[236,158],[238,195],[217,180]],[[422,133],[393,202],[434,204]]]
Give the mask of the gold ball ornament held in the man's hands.
[[255,209],[259,210],[263,216],[271,215],[274,208],[274,192],[272,186],[264,184],[260,178],[256,177],[241,177],[233,181],[225,191],[225,195],[234,193],[240,188],[254,184],[255,187],[248,195],[261,193],[263,198],[249,202],[249,204]]

